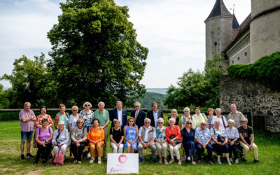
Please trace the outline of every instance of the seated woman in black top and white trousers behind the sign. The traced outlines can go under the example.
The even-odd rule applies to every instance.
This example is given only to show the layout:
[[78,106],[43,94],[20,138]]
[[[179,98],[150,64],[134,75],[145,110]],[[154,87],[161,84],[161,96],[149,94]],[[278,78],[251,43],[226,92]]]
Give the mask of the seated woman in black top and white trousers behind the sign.
[[120,120],[114,120],[114,127],[110,130],[111,146],[113,153],[123,153],[123,130],[120,127]]

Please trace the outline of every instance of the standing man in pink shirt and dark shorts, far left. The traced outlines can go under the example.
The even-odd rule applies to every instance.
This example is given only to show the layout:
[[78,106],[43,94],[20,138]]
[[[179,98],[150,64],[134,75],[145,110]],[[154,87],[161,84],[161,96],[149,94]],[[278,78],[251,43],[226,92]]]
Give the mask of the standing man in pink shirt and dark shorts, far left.
[[20,111],[20,134],[21,134],[21,143],[20,143],[20,160],[25,160],[24,150],[25,150],[25,140],[27,140],[27,158],[34,158],[30,154],[30,142],[32,140],[32,134],[34,130],[34,121],[36,121],[36,116],[34,112],[30,109],[31,104],[25,102],[24,109]]

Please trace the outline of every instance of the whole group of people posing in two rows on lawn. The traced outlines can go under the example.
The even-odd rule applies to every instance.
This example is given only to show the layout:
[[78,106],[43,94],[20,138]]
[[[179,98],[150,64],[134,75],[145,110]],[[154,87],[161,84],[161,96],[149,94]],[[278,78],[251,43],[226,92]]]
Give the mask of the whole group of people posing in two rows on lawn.
[[[104,109],[104,102],[98,103],[97,111],[92,111],[92,104],[85,102],[83,110],[78,112],[78,106],[72,106],[72,114],[65,112],[66,106],[59,104],[59,113],[55,116],[55,122],[47,114],[47,108],[42,106],[40,114],[36,117],[30,109],[31,104],[26,102],[24,109],[20,111],[21,121],[21,160],[25,160],[24,146],[27,141],[26,158],[34,158],[30,154],[31,140],[34,127],[34,147],[38,148],[34,165],[38,164],[40,158],[43,165],[47,164],[51,151],[57,154],[70,146],[73,153],[74,163],[81,163],[85,146],[88,147],[87,157],[93,163],[97,157],[98,164],[106,158],[107,138],[111,140],[113,153],[139,153],[139,162],[144,162],[144,149],[151,149],[152,162],[164,162],[172,164],[176,158],[181,165],[179,150],[183,150],[186,161],[196,165],[201,162],[204,149],[207,149],[205,158],[209,164],[213,164],[212,153],[217,153],[217,164],[221,164],[221,155],[225,153],[229,165],[238,163],[237,149],[243,148],[243,157],[246,161],[248,151],[253,150],[254,162],[258,162],[258,147],[254,144],[253,128],[248,126],[248,120],[237,111],[235,104],[230,106],[231,113],[228,120],[221,115],[221,109],[208,110],[208,116],[200,113],[198,107],[195,114],[190,116],[190,109],[186,107],[181,119],[176,109],[172,109],[171,116],[167,118],[167,126],[162,111],[158,110],[158,104],[152,104],[152,110],[148,111],[147,117],[141,111],[141,104],[134,103],[134,111],[127,119],[127,111],[123,109],[123,103],[116,102],[116,109],[111,113]],[[109,123],[112,122],[109,129]],[[55,132],[52,132],[52,125],[55,125]],[[181,129],[180,129],[181,127]],[[70,137],[69,137],[70,135]],[[167,148],[169,148],[170,160],[167,161]],[[158,153],[158,160],[156,158]],[[97,156],[96,156],[97,155]]]

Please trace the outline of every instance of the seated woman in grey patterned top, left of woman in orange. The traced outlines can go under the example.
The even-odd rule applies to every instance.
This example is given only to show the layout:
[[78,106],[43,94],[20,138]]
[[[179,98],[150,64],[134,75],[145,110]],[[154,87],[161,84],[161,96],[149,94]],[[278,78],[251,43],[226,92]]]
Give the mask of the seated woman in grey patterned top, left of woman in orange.
[[[82,154],[85,146],[87,146],[87,129],[85,129],[83,119],[79,118],[77,120],[78,127],[73,128],[71,132],[71,152],[74,156],[74,163],[78,162],[81,164],[82,162]],[[77,155],[78,148],[78,155]]]

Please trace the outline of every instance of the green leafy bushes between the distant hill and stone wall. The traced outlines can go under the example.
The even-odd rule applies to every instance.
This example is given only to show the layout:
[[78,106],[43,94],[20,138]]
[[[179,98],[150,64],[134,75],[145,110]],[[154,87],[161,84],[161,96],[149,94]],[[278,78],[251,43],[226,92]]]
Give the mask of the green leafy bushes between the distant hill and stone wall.
[[219,103],[220,79],[223,69],[223,57],[215,55],[208,60],[204,71],[189,69],[179,78],[177,85],[170,85],[167,90],[165,104],[169,108],[183,108],[193,104],[195,106],[216,107]]

